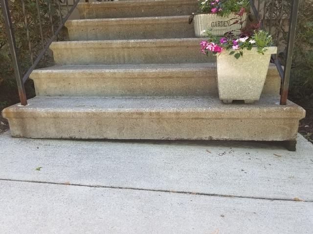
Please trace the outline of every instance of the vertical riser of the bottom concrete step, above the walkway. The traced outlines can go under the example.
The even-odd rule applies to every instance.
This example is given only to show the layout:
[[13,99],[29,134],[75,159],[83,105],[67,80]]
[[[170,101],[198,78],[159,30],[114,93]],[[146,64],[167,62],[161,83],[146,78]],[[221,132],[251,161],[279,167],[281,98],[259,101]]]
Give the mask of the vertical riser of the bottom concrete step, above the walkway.
[[[217,113],[219,114],[219,113]],[[247,113],[248,114],[248,113]],[[298,119],[203,118],[179,113],[27,113],[9,118],[13,137],[94,139],[293,140]]]

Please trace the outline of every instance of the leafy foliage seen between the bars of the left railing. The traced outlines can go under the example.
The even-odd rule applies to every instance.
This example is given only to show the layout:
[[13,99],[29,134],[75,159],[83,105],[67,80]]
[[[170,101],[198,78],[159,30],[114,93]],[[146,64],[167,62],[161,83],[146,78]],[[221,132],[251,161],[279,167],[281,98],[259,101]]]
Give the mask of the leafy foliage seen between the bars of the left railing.
[[[31,55],[33,56],[33,60],[35,60],[36,56],[43,49],[36,0],[24,0],[23,2],[25,15],[23,14],[21,0],[9,0],[9,9],[14,27],[22,73],[26,72],[31,66]],[[44,43],[53,35],[50,17],[53,22],[54,31],[60,23],[57,1],[51,1],[50,9],[48,2],[49,1],[46,0],[39,0]],[[25,27],[25,19],[28,24],[28,33]],[[48,60],[47,57],[42,59],[38,67],[45,66]],[[6,83],[4,82],[5,79],[14,78],[14,70],[2,14],[0,14],[0,61],[0,85],[1,83],[3,85]]]

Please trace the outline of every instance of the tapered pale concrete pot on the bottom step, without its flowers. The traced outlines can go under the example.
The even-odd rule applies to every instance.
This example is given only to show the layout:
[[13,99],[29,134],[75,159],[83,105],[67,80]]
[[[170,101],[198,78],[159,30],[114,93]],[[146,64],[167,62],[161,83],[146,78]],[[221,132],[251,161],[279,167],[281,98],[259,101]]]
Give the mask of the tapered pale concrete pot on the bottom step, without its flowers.
[[217,56],[217,83],[220,99],[224,103],[233,100],[244,100],[245,103],[253,103],[259,100],[265,79],[268,73],[268,65],[271,54],[276,54],[277,47],[266,47],[264,55],[252,50],[244,49],[244,56],[236,59],[223,51]]

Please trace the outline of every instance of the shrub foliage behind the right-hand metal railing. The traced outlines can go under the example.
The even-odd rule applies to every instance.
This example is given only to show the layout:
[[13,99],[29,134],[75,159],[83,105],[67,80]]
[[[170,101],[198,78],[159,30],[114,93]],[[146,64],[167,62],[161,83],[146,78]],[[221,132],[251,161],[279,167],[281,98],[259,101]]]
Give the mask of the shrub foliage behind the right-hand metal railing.
[[[279,19],[283,4],[283,16],[288,18],[291,9],[291,0],[275,0],[273,19]],[[271,8],[268,2],[267,11]],[[313,103],[313,0],[300,0],[294,51],[291,67],[290,96],[293,100],[307,100]],[[287,24],[288,21],[285,21]],[[276,42],[286,46],[288,27],[279,24],[279,20],[273,20],[272,35]],[[279,35],[278,39],[277,36]],[[282,63],[285,61],[285,53],[280,53]],[[312,105],[313,106],[313,105]]]

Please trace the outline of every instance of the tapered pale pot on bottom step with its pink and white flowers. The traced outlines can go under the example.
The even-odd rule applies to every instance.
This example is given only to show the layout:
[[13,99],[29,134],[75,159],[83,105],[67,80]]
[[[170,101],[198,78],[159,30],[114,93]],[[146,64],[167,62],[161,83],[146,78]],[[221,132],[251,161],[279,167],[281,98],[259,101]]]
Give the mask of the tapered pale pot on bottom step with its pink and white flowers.
[[209,40],[200,45],[203,54],[217,56],[217,83],[224,103],[253,103],[260,99],[270,56],[277,51],[267,32],[256,30],[252,35],[242,33],[239,37],[231,33],[224,37],[209,35]]

